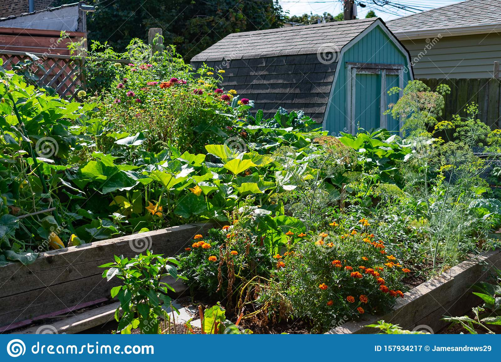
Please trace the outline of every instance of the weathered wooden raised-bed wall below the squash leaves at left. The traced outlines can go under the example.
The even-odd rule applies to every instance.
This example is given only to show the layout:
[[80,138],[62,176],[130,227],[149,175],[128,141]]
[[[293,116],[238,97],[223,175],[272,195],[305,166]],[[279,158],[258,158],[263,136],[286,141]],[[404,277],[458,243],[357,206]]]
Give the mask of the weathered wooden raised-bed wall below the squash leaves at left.
[[[205,234],[215,223],[194,223],[133,234],[91,244],[41,253],[28,266],[10,263],[0,267],[0,326],[22,326],[25,320],[110,298],[118,279],[106,282],[99,265],[114,255],[132,257],[146,249],[156,254],[180,253],[196,234]],[[4,329],[6,329],[4,328]]]

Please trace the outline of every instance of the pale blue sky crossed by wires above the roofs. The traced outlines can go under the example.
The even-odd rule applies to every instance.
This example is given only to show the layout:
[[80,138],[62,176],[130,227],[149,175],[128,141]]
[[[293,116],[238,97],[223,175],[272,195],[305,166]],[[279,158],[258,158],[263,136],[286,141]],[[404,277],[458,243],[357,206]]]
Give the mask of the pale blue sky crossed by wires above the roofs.
[[[458,0],[390,0],[391,3],[411,7],[417,10],[404,11],[394,7],[386,6],[380,8],[374,6],[372,1],[361,0],[361,3],[366,4],[365,8],[357,7],[358,18],[364,18],[369,10],[374,10],[376,15],[383,20],[395,19],[405,15],[412,15],[419,10],[430,10],[442,6],[457,3]],[[334,15],[341,13],[342,3],[340,0],[280,0],[280,5],[285,11],[289,11],[289,15],[322,14],[328,12]],[[386,12],[386,13],[385,13]]]

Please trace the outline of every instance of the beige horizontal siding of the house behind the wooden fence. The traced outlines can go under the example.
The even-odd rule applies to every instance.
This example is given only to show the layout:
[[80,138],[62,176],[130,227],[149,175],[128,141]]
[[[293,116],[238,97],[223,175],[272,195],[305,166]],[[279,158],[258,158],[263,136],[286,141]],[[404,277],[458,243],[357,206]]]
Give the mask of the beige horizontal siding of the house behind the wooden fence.
[[501,62],[501,33],[400,41],[409,50],[416,78],[491,78]]

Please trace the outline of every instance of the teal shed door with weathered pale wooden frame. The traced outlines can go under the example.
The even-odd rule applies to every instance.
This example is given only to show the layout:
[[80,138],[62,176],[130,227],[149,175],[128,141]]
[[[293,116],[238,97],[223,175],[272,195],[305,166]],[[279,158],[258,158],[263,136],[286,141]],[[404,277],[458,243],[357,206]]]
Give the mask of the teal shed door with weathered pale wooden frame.
[[356,133],[357,126],[367,131],[386,128],[398,132],[399,120],[383,114],[388,104],[399,95],[388,95],[392,87],[401,87],[403,67],[394,64],[347,63],[347,130]]

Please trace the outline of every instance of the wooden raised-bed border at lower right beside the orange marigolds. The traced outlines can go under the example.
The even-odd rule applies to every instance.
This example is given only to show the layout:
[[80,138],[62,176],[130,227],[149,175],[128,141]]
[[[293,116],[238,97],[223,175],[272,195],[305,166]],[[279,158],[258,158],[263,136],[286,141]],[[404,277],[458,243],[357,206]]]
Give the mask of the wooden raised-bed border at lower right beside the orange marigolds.
[[501,269],[500,250],[487,252],[475,260],[464,261],[409,290],[384,315],[364,315],[360,320],[346,322],[326,334],[376,333],[377,329],[366,325],[381,319],[399,324],[407,330],[426,326],[426,329],[438,332],[447,325],[440,320],[443,315],[463,315],[479,302],[479,298],[471,293],[470,287],[477,281],[488,279],[492,267]]

